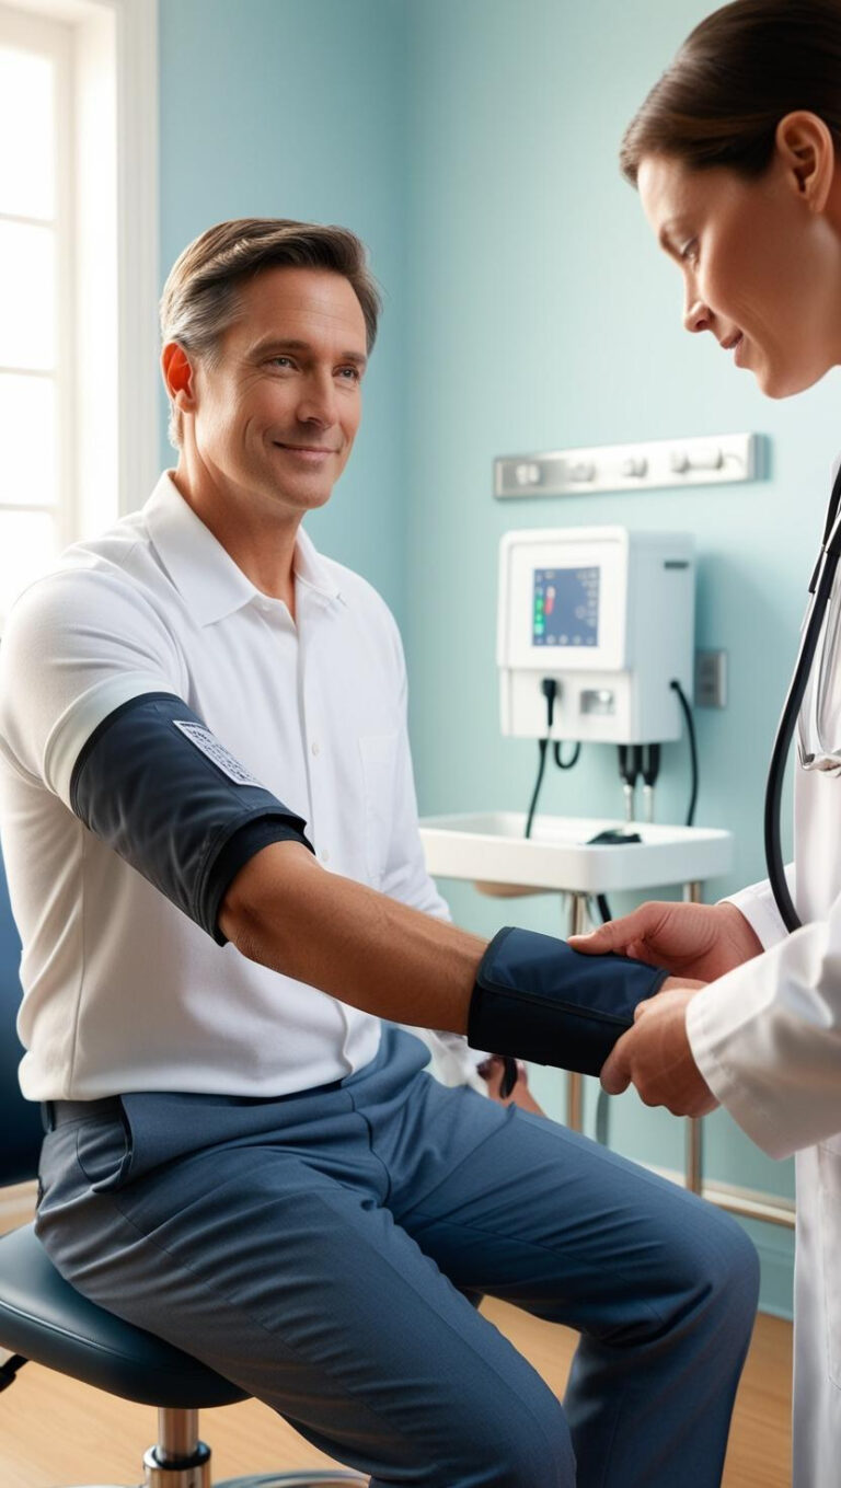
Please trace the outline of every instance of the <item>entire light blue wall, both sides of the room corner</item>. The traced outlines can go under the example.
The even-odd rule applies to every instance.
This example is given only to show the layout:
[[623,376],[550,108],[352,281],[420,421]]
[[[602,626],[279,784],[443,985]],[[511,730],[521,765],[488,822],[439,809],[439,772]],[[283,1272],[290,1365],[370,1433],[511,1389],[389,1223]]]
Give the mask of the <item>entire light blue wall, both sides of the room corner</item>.
[[[712,338],[680,324],[679,274],[616,167],[622,129],[698,0],[161,0],[162,254],[211,222],[281,214],[347,223],[387,290],[363,433],[311,524],[403,623],[421,809],[522,809],[534,748],[503,740],[496,558],[509,527],[686,528],[700,551],[698,644],[729,653],[725,713],[698,713],[697,821],[726,826],[719,896],[762,876],[765,766],[822,521],[838,384],[764,399]],[[673,434],[771,436],[753,487],[494,503],[496,454]],[[168,458],[168,457],[167,457]],[[658,818],[683,820],[685,744],[664,750]],[[546,781],[543,808],[621,812],[612,750]],[[560,927],[548,899],[508,906],[447,884],[455,917]],[[630,908],[616,899],[613,908]],[[563,1115],[563,1077],[534,1076]],[[592,1116],[594,1088],[588,1092]],[[631,1094],[615,1144],[682,1165],[683,1123]],[[728,1116],[707,1171],[792,1192]],[[764,1303],[790,1306],[790,1238],[752,1226]]]

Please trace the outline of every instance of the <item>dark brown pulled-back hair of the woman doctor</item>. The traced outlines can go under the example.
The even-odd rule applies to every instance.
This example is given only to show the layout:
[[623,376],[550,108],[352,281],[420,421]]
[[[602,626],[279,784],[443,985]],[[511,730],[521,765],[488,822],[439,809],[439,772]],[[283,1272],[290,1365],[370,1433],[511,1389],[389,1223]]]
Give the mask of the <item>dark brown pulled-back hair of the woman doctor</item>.
[[841,0],[734,0],[695,27],[649,92],[622,140],[622,174],[636,186],[645,155],[673,155],[761,176],[777,124],[798,109],[841,147]]

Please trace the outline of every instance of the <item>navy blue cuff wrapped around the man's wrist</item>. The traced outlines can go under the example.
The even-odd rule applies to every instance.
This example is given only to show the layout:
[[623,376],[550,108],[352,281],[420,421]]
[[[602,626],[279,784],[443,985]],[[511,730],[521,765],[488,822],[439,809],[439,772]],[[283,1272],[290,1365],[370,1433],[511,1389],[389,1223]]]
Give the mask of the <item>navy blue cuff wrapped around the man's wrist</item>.
[[506,927],[479,963],[467,1043],[598,1074],[637,1003],[667,976],[624,955],[586,955],[554,936]]

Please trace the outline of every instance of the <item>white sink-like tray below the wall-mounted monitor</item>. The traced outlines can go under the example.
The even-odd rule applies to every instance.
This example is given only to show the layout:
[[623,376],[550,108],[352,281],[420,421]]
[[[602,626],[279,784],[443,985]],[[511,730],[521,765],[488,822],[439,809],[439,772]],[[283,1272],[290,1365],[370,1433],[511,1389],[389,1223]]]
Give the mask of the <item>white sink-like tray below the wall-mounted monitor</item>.
[[[643,841],[589,844],[589,838],[612,827],[639,832]],[[703,882],[726,873],[734,857],[732,832],[616,818],[534,817],[530,838],[522,835],[522,811],[423,817],[420,829],[433,878],[467,878],[490,893],[607,894]]]

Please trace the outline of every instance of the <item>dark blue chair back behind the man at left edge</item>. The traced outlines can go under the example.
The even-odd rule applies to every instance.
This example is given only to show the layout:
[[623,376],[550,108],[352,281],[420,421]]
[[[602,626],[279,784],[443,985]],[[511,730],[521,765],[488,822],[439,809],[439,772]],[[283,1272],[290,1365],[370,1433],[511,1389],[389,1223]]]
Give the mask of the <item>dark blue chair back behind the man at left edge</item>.
[[18,1085],[18,1064],[24,1055],[15,1033],[21,1006],[19,966],[21,939],[0,860],[0,1184],[34,1178],[43,1141],[40,1106],[25,1101]]

